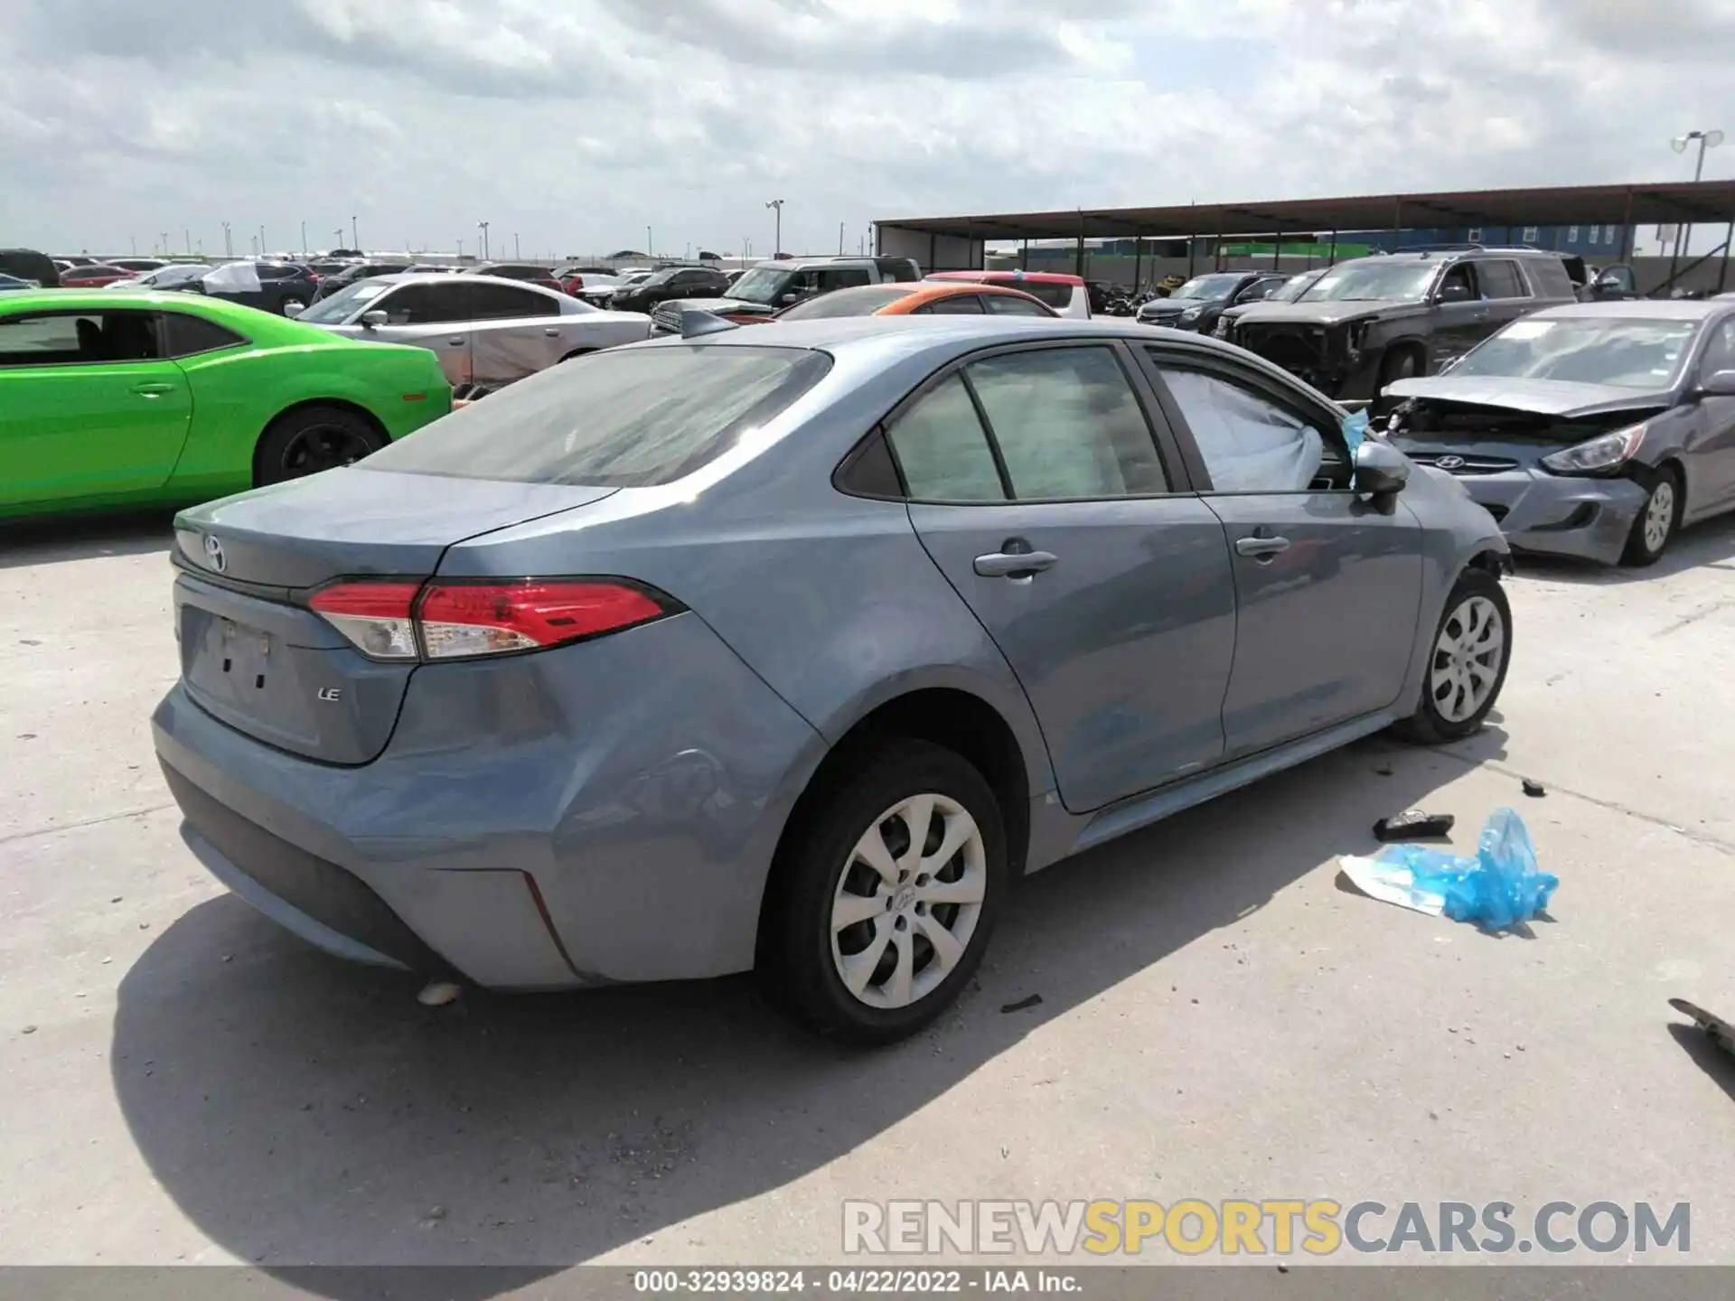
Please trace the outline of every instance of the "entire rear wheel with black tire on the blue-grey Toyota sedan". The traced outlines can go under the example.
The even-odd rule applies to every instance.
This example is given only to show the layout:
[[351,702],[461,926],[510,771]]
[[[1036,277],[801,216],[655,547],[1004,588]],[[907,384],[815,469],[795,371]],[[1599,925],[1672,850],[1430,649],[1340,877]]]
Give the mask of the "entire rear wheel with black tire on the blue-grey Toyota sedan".
[[[909,855],[923,807],[930,855],[946,836],[961,838],[946,862]],[[869,853],[885,873],[864,847],[883,850]],[[930,902],[940,893],[956,899]],[[982,774],[926,741],[874,742],[803,800],[784,834],[767,883],[760,978],[829,1039],[895,1043],[970,984],[1005,893],[1006,833]],[[937,947],[940,933],[951,944]]]

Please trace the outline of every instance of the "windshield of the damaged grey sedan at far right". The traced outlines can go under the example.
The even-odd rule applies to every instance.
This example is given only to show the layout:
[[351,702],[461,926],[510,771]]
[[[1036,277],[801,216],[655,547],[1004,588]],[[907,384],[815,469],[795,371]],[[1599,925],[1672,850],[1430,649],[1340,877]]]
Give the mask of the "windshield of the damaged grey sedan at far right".
[[1470,352],[1450,375],[1667,389],[1692,349],[1697,328],[1697,321],[1529,317],[1513,321]]

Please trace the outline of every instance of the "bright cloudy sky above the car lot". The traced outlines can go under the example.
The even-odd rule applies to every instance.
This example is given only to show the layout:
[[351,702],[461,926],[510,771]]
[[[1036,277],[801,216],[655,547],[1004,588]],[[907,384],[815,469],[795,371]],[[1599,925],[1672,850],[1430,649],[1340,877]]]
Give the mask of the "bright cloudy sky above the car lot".
[[[1735,0],[0,0],[0,243],[854,250],[881,217],[1692,175]],[[1721,94],[1719,94],[1721,92]],[[1735,175],[1735,139],[1707,177]]]

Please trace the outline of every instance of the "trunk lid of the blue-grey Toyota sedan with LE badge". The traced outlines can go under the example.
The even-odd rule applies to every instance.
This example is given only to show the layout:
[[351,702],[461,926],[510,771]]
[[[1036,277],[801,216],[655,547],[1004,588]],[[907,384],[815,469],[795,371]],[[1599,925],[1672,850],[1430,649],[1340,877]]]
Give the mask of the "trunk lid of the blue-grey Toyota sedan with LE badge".
[[337,578],[420,585],[455,543],[612,491],[347,468],[182,512],[182,683],[206,713],[269,746],[370,763],[416,661],[361,654],[309,609],[312,593]]

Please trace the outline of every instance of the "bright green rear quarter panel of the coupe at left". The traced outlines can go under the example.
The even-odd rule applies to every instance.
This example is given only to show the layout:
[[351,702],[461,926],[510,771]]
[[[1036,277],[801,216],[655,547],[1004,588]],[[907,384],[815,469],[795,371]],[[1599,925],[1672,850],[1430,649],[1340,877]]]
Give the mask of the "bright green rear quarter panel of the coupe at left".
[[[253,486],[253,449],[279,415],[335,401],[366,411],[399,439],[451,411],[451,385],[432,354],[350,343],[234,349],[184,357],[193,427],[172,487],[220,496]],[[423,394],[406,401],[406,394]]]

